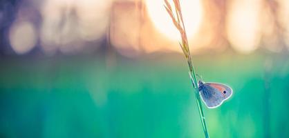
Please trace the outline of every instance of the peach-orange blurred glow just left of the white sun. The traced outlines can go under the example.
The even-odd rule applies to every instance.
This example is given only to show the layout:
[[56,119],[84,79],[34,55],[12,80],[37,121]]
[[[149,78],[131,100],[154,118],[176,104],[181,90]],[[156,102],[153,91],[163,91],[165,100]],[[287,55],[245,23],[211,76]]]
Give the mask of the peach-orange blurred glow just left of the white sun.
[[114,3],[111,11],[110,40],[125,57],[139,55],[141,43],[140,11],[135,3]]

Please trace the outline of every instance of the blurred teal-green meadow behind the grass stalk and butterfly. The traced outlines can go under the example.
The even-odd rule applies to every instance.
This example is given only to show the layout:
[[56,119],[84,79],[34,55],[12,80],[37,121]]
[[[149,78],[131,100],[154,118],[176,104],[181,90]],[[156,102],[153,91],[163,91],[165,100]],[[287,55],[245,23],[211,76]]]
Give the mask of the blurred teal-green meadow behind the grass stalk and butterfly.
[[[211,137],[289,137],[288,57],[193,60],[204,81],[234,90],[205,108]],[[18,56],[0,65],[0,137],[203,137],[182,55]]]

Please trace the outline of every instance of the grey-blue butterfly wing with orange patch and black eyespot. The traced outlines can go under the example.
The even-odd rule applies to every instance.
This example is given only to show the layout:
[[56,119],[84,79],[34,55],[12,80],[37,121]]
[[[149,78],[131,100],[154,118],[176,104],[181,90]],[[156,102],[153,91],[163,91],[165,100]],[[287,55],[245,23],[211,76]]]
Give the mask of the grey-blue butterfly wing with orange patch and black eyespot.
[[216,108],[229,99],[233,91],[232,88],[222,83],[203,83],[200,86],[200,93],[208,108]]

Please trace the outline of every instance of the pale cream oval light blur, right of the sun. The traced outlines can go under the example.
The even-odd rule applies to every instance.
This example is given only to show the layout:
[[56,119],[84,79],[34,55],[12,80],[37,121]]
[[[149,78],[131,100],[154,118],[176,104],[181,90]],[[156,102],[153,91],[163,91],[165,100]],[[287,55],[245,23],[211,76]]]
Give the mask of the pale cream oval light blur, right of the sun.
[[233,48],[249,53],[259,46],[259,0],[233,1],[228,14],[227,33]]

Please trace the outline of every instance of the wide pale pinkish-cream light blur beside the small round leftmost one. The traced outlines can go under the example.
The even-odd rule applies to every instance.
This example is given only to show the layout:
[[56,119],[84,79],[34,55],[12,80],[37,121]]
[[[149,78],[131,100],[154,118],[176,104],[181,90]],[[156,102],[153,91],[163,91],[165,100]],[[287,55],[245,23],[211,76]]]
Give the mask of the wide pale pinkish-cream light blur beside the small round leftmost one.
[[[39,10],[41,47],[47,55],[82,51],[105,37],[111,0],[50,0]],[[95,46],[97,48],[97,46]]]

